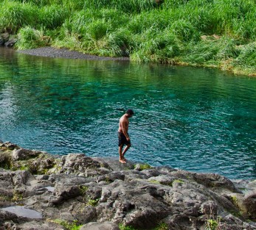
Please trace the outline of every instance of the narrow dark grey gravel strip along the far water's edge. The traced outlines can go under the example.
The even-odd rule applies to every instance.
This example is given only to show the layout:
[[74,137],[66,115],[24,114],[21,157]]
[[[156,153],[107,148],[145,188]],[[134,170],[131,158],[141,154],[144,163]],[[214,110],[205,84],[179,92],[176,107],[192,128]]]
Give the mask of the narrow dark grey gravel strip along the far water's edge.
[[66,48],[41,47],[18,51],[22,54],[30,54],[41,57],[62,57],[68,59],[85,59],[85,60],[122,60],[129,61],[128,57],[99,57],[96,55],[83,54],[78,51],[69,51]]

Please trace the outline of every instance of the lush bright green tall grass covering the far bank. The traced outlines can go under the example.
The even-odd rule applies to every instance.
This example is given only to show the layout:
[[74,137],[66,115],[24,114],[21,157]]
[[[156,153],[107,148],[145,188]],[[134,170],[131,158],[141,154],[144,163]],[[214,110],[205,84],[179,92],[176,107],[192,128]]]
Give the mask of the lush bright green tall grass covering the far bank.
[[254,0],[0,0],[16,48],[66,47],[136,62],[256,75]]

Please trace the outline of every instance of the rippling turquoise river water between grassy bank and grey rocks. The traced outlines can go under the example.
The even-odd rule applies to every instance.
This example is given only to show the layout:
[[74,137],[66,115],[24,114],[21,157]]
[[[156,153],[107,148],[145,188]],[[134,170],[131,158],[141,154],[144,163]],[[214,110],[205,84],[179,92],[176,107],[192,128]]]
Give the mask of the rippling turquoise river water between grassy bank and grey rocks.
[[256,78],[207,69],[32,57],[0,48],[0,140],[52,154],[126,158],[256,178]]

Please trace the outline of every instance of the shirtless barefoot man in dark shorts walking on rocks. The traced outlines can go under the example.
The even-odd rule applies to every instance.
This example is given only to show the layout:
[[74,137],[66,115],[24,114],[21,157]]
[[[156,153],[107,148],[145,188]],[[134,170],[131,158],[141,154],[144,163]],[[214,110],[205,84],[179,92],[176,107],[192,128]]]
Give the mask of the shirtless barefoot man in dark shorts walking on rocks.
[[[128,134],[128,126],[129,126],[129,118],[134,115],[134,111],[132,109],[128,109],[124,115],[120,118],[119,129],[118,129],[118,146],[119,146],[119,161],[122,164],[126,163],[125,153],[131,147],[131,140]],[[123,146],[125,149],[122,151]]]

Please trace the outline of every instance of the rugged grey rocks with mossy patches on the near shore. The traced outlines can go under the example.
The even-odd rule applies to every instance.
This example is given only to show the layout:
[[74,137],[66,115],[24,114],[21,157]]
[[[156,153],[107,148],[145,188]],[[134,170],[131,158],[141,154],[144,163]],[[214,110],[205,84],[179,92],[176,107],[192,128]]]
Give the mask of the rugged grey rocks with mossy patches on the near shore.
[[0,229],[256,229],[256,181],[0,141]]

